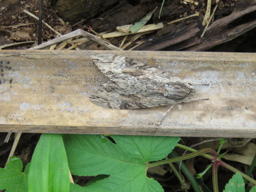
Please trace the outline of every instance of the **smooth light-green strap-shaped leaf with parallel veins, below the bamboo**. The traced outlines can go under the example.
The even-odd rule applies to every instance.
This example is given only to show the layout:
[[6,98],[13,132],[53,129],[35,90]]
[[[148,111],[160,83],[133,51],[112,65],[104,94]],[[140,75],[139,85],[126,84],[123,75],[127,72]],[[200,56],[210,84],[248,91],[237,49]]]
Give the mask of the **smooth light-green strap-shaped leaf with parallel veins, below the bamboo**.
[[29,192],[69,191],[68,160],[60,134],[42,134],[32,156]]

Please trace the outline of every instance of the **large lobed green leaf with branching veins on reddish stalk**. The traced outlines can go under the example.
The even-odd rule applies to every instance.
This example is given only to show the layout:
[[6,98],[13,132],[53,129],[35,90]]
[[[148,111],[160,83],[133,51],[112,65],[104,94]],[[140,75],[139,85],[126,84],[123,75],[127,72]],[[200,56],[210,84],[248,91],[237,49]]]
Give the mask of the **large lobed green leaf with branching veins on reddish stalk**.
[[86,187],[70,185],[70,191],[163,191],[158,182],[146,176],[147,163],[166,157],[178,137],[63,135],[69,167],[79,176],[109,175]]

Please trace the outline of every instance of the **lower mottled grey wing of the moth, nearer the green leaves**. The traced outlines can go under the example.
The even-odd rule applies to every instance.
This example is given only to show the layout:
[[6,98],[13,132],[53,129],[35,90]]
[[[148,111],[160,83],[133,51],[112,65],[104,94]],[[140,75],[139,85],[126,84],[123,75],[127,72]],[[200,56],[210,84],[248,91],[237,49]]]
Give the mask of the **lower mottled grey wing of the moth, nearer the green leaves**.
[[145,94],[138,88],[135,92],[127,92],[123,85],[107,84],[89,96],[92,103],[112,109],[152,108],[174,104],[172,100],[162,94]]

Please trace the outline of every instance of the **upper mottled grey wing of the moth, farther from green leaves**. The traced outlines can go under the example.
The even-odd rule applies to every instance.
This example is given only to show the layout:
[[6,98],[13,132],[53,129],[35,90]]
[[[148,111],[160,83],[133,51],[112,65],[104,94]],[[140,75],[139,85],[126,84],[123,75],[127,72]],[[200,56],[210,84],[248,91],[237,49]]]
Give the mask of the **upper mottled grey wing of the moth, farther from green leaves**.
[[166,83],[173,76],[158,68],[120,55],[98,54],[92,56],[94,64],[113,82],[153,81]]

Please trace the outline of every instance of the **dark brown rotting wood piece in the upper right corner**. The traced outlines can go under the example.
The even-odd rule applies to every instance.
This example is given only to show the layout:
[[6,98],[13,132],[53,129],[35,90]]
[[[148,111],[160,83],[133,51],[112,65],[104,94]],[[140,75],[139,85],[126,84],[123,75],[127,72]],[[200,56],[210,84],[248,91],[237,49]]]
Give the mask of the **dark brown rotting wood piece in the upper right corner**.
[[[181,23],[179,25],[171,24],[165,26],[158,34],[150,36],[154,42],[150,42],[146,37],[145,43],[142,44],[140,50],[184,50],[184,51],[203,51],[208,50],[214,46],[230,41],[245,32],[256,27],[256,19],[251,17],[250,20],[243,18],[246,14],[252,14],[256,11],[256,0],[238,0],[235,7],[230,8],[230,15],[218,19],[206,28],[204,38],[199,38],[203,33],[200,28],[202,16],[194,23],[186,25]],[[231,9],[234,10],[231,10]],[[244,21],[244,23],[237,23],[237,20]],[[194,27],[194,28],[192,28]],[[195,33],[197,31],[197,33]],[[180,41],[179,41],[180,40]]]

